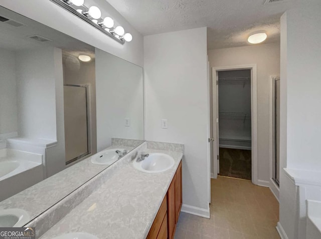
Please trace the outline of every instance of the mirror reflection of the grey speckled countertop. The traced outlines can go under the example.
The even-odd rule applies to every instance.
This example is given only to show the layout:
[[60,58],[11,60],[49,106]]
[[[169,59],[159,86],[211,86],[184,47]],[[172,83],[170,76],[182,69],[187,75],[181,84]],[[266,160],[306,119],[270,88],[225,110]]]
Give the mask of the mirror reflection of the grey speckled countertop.
[[[129,152],[134,147],[111,145],[106,149],[112,148],[123,148]],[[0,202],[0,209],[20,208],[29,213],[30,219],[37,217],[109,166],[91,163],[91,157],[95,155],[79,161],[55,175],[5,199]]]

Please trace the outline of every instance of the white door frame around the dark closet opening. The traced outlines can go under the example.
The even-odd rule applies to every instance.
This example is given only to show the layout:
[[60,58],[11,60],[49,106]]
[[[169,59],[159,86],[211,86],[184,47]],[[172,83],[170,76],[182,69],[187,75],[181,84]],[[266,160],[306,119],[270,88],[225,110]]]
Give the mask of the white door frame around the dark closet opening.
[[[233,70],[251,70],[251,124],[252,124],[252,183],[258,185],[258,154],[257,154],[257,65],[256,64],[249,64],[249,65],[236,65],[236,66],[220,66],[220,67],[213,67],[212,68],[212,84],[214,84],[214,79],[216,81],[217,74],[219,71],[233,71]],[[215,82],[216,84],[216,82]],[[211,96],[211,100],[214,103],[213,94]],[[217,104],[218,102],[215,103]],[[213,107],[212,107],[213,108]],[[216,112],[213,112],[210,109],[210,112],[213,114],[213,119],[217,119],[218,115]],[[213,122],[215,122],[213,120]],[[213,124],[213,122],[211,122]],[[213,126],[214,128],[214,126]],[[217,137],[217,136],[214,136]],[[218,144],[218,140],[216,140]],[[213,155],[211,158],[211,165],[213,167],[213,174],[214,178],[217,178],[217,164],[214,163],[216,155]]]

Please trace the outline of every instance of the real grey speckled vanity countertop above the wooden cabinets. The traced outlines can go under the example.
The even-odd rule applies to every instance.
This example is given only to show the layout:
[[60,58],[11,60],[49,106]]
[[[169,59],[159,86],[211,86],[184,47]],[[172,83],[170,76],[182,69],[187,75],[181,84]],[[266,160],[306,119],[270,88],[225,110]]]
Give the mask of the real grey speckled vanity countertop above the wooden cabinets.
[[174,166],[162,173],[144,173],[133,167],[132,160],[127,160],[40,238],[69,232],[87,232],[99,239],[145,238],[183,157],[182,152],[145,147],[140,151],[171,155]]

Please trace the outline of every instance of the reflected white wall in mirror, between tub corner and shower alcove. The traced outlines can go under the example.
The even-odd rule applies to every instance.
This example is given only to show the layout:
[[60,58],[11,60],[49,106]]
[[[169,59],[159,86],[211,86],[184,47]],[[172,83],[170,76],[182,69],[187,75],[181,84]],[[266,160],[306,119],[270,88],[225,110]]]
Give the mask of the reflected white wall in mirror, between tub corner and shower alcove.
[[54,48],[17,53],[19,136],[56,139]]

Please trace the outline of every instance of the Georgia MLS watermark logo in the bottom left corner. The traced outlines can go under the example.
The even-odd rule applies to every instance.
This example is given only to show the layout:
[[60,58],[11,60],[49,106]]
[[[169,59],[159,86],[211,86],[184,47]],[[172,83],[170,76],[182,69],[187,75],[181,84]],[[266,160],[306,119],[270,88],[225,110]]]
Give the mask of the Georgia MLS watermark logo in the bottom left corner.
[[0,239],[36,239],[35,227],[0,227]]

